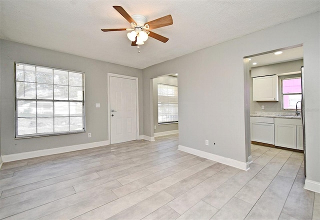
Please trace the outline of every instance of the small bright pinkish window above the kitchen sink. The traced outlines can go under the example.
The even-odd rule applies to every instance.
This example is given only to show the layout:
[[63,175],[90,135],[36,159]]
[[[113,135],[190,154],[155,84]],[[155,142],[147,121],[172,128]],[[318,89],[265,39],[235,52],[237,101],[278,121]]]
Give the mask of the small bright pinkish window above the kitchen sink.
[[[295,105],[301,101],[301,77],[281,79],[282,110],[295,110]],[[298,108],[301,102],[298,103]]]

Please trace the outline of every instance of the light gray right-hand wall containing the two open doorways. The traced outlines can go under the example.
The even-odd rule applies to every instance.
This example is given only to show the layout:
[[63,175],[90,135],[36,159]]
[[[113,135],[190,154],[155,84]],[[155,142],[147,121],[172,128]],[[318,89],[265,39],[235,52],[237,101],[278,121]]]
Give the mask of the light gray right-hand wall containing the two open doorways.
[[[144,115],[153,114],[150,79],[178,72],[179,144],[245,162],[250,103],[243,57],[303,43],[306,175],[320,182],[319,20],[316,12],[143,69]],[[153,120],[143,128],[152,135]]]

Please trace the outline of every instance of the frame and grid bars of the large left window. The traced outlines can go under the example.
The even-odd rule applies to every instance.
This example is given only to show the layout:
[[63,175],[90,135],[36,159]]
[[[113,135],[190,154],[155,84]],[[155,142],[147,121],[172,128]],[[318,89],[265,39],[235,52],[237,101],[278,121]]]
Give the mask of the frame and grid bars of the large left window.
[[[64,99],[54,99],[54,96],[52,96],[52,99],[37,99],[36,97],[34,99],[32,98],[17,98],[17,70],[16,70],[16,66],[17,64],[21,64],[21,65],[28,65],[28,66],[34,66],[34,67],[40,67],[40,68],[49,68],[53,70],[61,70],[61,71],[67,71],[69,72],[73,72],[73,73],[80,73],[82,74],[82,100],[69,100],[69,98],[67,100]],[[53,74],[53,73],[52,73]],[[36,75],[35,75],[36,77]],[[29,64],[29,63],[24,63],[24,62],[14,62],[14,139],[22,139],[22,138],[33,138],[33,137],[43,137],[43,136],[55,136],[55,135],[64,135],[64,134],[74,134],[74,133],[84,133],[85,132],[85,81],[84,81],[84,72],[81,71],[75,71],[75,70],[68,70],[68,69],[61,69],[61,68],[55,68],[55,67],[49,67],[49,66],[43,66],[43,65],[36,65],[36,64]],[[68,80],[69,80],[69,75],[68,75]],[[25,82],[24,80],[21,82]],[[35,81],[35,86],[37,85],[37,82]],[[41,83],[40,83],[41,84]],[[52,81],[52,94],[54,94],[54,81]],[[68,91],[69,91],[69,83],[68,83]],[[71,85],[72,86],[72,85]],[[80,86],[76,86],[76,87],[80,87]],[[36,90],[36,89],[35,89]],[[69,93],[68,93],[69,96]],[[69,131],[60,131],[60,132],[43,132],[43,133],[32,133],[32,134],[17,134],[17,129],[18,129],[18,106],[17,106],[17,100],[32,100],[32,101],[52,101],[53,102],[53,108],[54,108],[54,102],[59,102],[59,101],[63,101],[63,102],[68,102],[68,103],[82,103],[82,129],[78,129],[78,130],[69,130]],[[35,107],[36,108],[36,107]],[[54,112],[54,110],[53,110]],[[37,118],[38,116],[35,115],[35,118]],[[53,120],[54,117],[54,113],[53,113]],[[70,111],[68,113],[68,118],[70,118]],[[68,122],[68,125],[70,126],[70,120]],[[37,127],[37,126],[35,126]]]

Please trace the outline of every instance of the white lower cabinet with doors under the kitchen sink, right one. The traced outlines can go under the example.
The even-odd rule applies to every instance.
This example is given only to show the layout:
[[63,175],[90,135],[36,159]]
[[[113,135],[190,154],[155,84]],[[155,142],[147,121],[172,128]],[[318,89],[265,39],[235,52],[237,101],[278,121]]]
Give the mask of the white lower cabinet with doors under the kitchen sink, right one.
[[[292,149],[303,149],[300,135],[301,119],[274,118],[274,145]],[[302,129],[301,129],[302,132]],[[302,148],[301,148],[302,141]]]

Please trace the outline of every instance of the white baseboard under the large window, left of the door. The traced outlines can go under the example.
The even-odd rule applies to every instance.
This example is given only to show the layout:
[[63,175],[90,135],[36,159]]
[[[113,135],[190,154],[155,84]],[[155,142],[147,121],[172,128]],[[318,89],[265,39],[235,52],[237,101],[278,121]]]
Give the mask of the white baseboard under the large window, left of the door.
[[10,162],[20,159],[28,159],[38,156],[46,156],[56,153],[64,153],[64,152],[70,152],[80,149],[88,149],[98,146],[104,146],[109,145],[109,140],[103,140],[98,142],[92,142],[92,143],[83,143],[83,144],[77,144],[77,145],[71,145],[71,146],[62,146],[62,147],[56,147],[56,148],[50,148],[50,149],[41,149],[41,150],[34,150],[29,152],[22,152],[22,153],[13,153],[8,155],[1,155],[3,162]]

